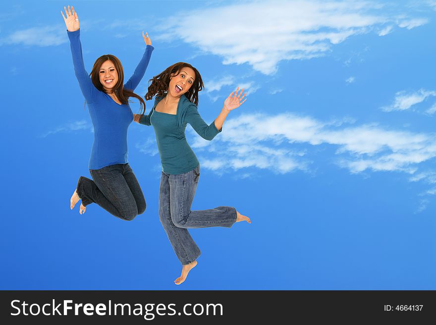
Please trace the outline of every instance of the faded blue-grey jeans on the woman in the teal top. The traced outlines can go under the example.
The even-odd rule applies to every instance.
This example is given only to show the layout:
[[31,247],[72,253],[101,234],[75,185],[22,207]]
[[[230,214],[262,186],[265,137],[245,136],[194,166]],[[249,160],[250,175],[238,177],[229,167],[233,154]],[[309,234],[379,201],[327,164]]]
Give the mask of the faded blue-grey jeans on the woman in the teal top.
[[188,228],[231,227],[236,222],[236,209],[232,207],[191,211],[199,178],[200,166],[184,174],[161,175],[159,218],[182,265],[201,254]]

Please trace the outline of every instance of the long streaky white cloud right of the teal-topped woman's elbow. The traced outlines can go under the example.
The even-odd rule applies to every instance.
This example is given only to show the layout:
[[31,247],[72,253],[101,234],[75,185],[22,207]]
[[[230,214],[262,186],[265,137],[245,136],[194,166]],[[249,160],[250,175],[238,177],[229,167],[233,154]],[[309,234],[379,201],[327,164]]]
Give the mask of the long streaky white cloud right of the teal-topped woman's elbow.
[[315,154],[313,147],[320,145],[333,149],[333,161],[352,173],[369,169],[413,174],[419,163],[436,157],[436,140],[431,134],[348,123],[349,119],[322,122],[293,113],[243,114],[226,121],[223,132],[212,142],[191,130],[190,143],[202,165],[218,173],[247,167],[278,173],[310,172],[308,154]]

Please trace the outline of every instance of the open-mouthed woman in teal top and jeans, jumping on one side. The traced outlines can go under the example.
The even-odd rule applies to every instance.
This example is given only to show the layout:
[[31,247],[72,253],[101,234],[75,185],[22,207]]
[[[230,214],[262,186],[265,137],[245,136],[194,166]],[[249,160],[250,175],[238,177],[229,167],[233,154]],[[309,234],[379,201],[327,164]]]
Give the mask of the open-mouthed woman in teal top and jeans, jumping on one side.
[[212,140],[221,132],[230,110],[238,108],[245,94],[239,88],[224,102],[218,117],[208,125],[197,109],[198,92],[203,89],[200,73],[192,65],[175,63],[151,79],[146,100],[155,97],[148,115],[136,115],[135,121],[153,125],[162,163],[159,193],[159,218],[168,239],[182,264],[182,273],[174,281],[182,283],[189,271],[197,265],[200,249],[188,228],[231,227],[238,221],[251,223],[233,207],[217,207],[191,211],[200,176],[200,163],[186,141],[187,123],[204,139]]

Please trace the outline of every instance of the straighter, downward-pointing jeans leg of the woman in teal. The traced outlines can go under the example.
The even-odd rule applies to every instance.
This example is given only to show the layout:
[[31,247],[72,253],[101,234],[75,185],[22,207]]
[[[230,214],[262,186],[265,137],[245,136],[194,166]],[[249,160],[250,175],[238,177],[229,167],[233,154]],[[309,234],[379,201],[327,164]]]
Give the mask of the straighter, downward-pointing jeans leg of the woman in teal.
[[162,173],[159,187],[159,218],[180,263],[188,265],[194,262],[201,252],[188,230],[176,227],[172,222],[169,193],[168,176]]

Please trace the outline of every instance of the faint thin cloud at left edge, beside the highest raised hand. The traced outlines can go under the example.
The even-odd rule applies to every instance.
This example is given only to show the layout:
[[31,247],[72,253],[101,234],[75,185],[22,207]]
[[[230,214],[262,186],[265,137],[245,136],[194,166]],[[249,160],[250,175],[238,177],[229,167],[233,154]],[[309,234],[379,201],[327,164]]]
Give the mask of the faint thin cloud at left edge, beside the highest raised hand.
[[56,46],[66,43],[65,28],[61,26],[32,27],[13,32],[0,40],[3,44],[23,44],[27,46]]

